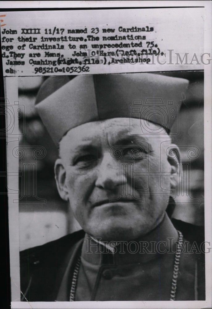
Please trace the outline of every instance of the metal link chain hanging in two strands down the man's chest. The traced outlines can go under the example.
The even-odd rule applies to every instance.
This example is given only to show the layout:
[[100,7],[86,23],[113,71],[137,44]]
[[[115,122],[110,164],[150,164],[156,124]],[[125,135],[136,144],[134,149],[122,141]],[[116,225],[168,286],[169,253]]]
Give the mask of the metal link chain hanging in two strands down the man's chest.
[[[170,300],[175,300],[176,297],[176,288],[177,288],[177,277],[179,272],[179,264],[180,264],[180,255],[183,245],[183,234],[180,231],[178,232],[178,242],[177,242],[177,249],[175,252],[175,261],[174,261],[174,269],[173,269],[173,276],[172,276],[172,286],[171,286],[171,293],[170,293]],[[71,282],[71,290],[70,290],[70,302],[75,301],[75,294],[76,294],[76,287],[77,287],[77,279],[79,274],[79,268],[81,265],[81,256],[78,257],[77,263],[74,268],[74,274]]]

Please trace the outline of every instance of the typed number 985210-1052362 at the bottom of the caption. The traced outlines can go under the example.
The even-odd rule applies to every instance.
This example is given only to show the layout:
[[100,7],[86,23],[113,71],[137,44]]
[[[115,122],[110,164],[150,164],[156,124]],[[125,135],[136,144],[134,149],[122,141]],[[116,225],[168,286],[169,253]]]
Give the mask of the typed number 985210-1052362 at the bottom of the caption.
[[36,67],[34,68],[35,74],[41,73],[81,73],[81,72],[89,72],[89,66],[66,66],[62,68],[55,67]]

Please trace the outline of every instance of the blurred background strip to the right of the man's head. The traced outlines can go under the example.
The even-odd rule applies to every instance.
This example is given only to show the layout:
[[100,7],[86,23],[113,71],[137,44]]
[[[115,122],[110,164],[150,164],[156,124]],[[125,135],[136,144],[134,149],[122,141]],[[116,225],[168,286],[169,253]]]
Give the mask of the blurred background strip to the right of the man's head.
[[199,155],[190,159],[190,193],[184,192],[184,203],[176,198],[172,221],[181,228],[185,238],[200,244],[204,241],[204,75],[185,72],[183,77],[190,83],[180,109],[179,134],[173,136],[173,141],[180,147],[181,160],[188,160],[188,148],[183,146],[197,147]]

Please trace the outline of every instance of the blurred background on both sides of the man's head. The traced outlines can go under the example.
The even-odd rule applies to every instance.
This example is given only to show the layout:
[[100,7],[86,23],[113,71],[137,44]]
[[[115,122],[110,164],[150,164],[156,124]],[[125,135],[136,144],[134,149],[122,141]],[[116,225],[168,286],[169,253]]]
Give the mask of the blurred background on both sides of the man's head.
[[[160,72],[161,74],[161,72]],[[183,203],[176,198],[172,214],[175,226],[188,240],[204,240],[204,85],[203,72],[164,72],[164,75],[189,79],[189,89],[179,115],[179,134],[171,135],[178,146],[194,146],[199,149],[197,158],[190,159],[190,197],[184,194]],[[73,76],[74,78],[74,76]],[[57,148],[35,111],[35,99],[40,85],[46,77],[19,77],[19,103],[25,106],[25,134],[19,143],[24,148],[24,159],[32,159],[33,147],[43,146],[46,155],[37,159],[37,197],[45,203],[36,203],[30,196],[19,203],[20,250],[41,245],[80,229],[70,208],[62,201],[54,180],[54,162]],[[22,119],[22,118],[21,118]],[[23,128],[20,123],[19,128]],[[188,159],[180,147],[180,159]],[[21,161],[21,159],[20,159]],[[20,162],[20,169],[22,168]],[[19,181],[20,196],[22,180]],[[196,202],[196,200],[199,200]],[[39,229],[37,229],[39,226]]]

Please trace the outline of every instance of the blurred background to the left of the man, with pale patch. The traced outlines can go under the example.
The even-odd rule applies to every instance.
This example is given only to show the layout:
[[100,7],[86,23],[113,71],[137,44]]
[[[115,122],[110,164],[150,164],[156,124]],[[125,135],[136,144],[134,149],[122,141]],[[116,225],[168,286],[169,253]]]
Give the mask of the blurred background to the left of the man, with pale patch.
[[[79,229],[67,204],[61,200],[54,180],[54,162],[57,148],[49,137],[40,117],[35,111],[35,98],[43,77],[19,78],[19,102],[25,106],[25,134],[19,148],[25,151],[24,160],[33,158],[33,146],[43,146],[46,155],[37,159],[37,197],[46,203],[36,203],[28,196],[19,203],[20,250],[41,245]],[[19,125],[21,129],[23,126]],[[32,147],[28,147],[32,146]],[[20,160],[21,161],[21,160]],[[21,169],[20,162],[20,169]],[[19,178],[20,196],[22,180]],[[37,228],[39,226],[39,229]]]

